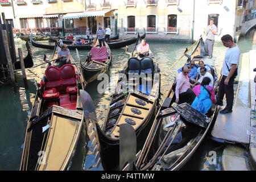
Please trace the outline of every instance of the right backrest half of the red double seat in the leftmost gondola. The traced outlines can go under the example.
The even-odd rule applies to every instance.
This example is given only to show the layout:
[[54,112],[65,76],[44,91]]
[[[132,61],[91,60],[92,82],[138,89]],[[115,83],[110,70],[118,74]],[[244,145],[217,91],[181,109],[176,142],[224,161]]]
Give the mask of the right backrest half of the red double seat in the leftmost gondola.
[[61,85],[69,86],[76,85],[76,69],[71,64],[65,64],[60,68]]

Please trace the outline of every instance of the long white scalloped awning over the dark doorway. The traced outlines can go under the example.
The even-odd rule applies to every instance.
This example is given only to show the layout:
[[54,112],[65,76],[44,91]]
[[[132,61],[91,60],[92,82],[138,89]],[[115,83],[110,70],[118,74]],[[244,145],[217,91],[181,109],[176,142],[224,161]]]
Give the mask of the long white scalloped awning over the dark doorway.
[[104,11],[84,11],[82,13],[67,13],[62,16],[62,19],[76,19],[82,17],[90,17],[90,16],[105,16],[106,13],[112,10],[104,10]]

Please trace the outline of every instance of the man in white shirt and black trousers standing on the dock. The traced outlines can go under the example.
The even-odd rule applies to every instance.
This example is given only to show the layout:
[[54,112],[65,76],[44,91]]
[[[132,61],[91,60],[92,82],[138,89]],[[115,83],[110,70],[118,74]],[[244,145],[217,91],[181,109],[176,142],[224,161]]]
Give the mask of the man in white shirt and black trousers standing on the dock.
[[221,110],[221,114],[231,113],[234,100],[234,78],[237,76],[237,69],[240,60],[240,49],[233,42],[231,35],[224,35],[221,38],[223,46],[228,47],[222,64],[220,87],[216,104],[223,105],[222,100],[226,95],[226,107]]

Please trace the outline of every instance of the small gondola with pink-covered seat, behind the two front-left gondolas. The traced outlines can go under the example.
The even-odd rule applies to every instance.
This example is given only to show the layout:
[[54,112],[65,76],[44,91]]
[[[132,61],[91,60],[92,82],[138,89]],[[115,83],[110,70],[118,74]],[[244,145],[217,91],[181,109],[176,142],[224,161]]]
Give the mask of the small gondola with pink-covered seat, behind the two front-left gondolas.
[[99,43],[97,40],[96,44],[88,52],[85,62],[83,64],[80,63],[86,83],[96,80],[100,73],[109,70],[112,64],[112,53],[106,42],[105,45],[101,48],[98,47]]

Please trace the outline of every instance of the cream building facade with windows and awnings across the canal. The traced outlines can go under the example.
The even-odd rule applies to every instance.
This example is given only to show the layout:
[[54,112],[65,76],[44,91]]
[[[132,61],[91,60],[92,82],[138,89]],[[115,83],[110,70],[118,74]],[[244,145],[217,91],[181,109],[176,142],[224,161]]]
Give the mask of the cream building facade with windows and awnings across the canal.
[[[253,0],[254,1],[254,0]],[[236,36],[251,0],[0,0],[0,11],[15,28],[64,26],[66,33],[94,34],[115,19],[120,36],[147,32],[147,39],[196,40],[214,19],[221,35]],[[253,2],[254,6],[254,2]],[[117,15],[117,16],[116,16]]]

